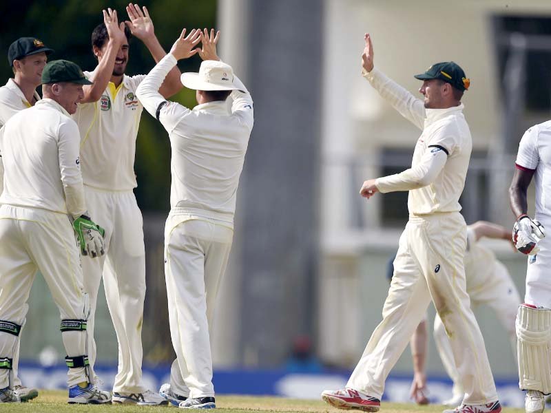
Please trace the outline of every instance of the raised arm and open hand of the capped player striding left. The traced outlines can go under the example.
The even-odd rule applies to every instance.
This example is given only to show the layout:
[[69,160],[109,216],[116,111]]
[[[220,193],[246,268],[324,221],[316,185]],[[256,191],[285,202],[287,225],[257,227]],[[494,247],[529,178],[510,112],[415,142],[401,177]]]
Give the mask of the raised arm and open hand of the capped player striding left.
[[366,78],[371,86],[384,100],[390,103],[399,114],[404,116],[413,125],[419,129],[424,128],[425,121],[425,105],[423,100],[415,98],[404,87],[395,83],[395,81],[386,77],[382,72],[377,70],[373,65],[373,43],[371,36],[366,33],[364,35],[365,47],[362,53],[362,76]]

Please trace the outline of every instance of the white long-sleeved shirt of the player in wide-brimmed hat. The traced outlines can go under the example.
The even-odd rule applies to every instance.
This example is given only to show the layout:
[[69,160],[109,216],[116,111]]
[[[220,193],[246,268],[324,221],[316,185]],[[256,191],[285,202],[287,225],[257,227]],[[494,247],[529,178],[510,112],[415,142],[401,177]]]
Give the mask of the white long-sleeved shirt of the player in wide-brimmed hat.
[[[138,87],[138,98],[152,116],[165,102],[158,89],[174,65],[176,59],[167,54]],[[231,225],[254,123],[251,94],[237,76],[234,83],[245,93],[231,92],[231,113],[225,101],[197,105],[193,110],[168,102],[159,112],[171,143],[171,208],[198,210],[206,218]]]

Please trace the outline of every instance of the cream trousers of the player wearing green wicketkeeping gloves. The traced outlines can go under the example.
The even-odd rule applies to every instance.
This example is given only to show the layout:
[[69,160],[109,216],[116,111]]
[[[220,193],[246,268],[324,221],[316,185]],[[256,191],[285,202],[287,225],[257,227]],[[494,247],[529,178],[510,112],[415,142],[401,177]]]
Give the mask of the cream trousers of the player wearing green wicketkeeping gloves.
[[[34,275],[40,271],[61,319],[86,319],[80,252],[67,215],[44,209],[0,207],[0,320],[22,325]],[[60,328],[60,325],[51,326]],[[68,355],[86,354],[85,332],[64,332]],[[0,357],[11,357],[18,337],[0,332]],[[0,388],[8,386],[8,370],[0,369]],[[70,368],[69,386],[88,381],[84,368]],[[14,383],[15,384],[15,383]]]

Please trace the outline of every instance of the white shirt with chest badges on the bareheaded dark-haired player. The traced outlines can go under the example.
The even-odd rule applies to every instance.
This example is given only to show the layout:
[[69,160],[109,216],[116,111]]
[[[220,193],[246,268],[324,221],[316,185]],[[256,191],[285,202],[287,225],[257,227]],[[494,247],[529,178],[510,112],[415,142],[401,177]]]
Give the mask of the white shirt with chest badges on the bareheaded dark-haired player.
[[[93,80],[94,72],[84,72]],[[132,191],[136,184],[134,157],[143,106],[136,88],[145,75],[110,82],[100,100],[79,105],[72,118],[81,132],[84,184],[104,191]]]

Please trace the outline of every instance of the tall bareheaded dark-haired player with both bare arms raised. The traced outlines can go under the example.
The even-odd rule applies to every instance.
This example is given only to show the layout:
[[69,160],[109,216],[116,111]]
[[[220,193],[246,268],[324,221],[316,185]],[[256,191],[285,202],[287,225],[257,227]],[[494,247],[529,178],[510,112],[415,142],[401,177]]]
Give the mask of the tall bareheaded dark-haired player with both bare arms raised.
[[[99,284],[118,340],[118,372],[113,386],[114,403],[167,404],[142,382],[142,323],[145,297],[145,248],[143,222],[133,189],[136,136],[143,106],[136,88],[145,75],[127,76],[128,39],[131,35],[149,49],[155,61],[165,56],[154,34],[147,8],[129,4],[129,21],[119,23],[116,11],[103,10],[104,22],[92,33],[92,50],[98,59],[93,72],[84,72],[94,85],[85,87],[83,104],[73,115],[81,132],[82,173],[90,213],[105,227],[106,255],[100,260],[83,258],[85,289],[90,293],[92,312]],[[182,88],[177,67],[161,89],[171,96]],[[90,335],[92,337],[92,335]],[[96,361],[96,344],[90,342],[90,365]],[[92,374],[94,374],[92,372]]]

